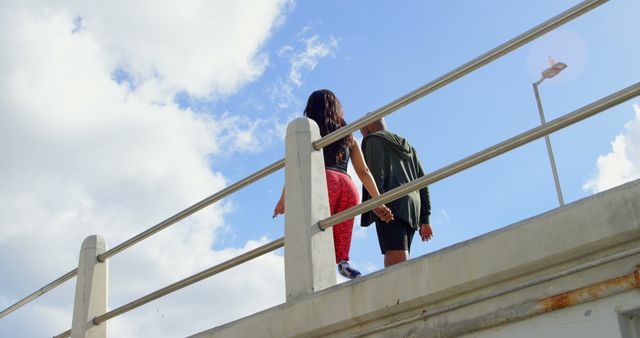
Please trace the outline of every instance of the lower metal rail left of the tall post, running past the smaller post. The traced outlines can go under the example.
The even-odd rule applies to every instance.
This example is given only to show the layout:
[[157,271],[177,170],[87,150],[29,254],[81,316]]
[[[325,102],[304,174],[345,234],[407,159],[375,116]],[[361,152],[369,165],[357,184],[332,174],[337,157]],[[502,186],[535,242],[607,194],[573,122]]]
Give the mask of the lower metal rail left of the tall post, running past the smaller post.
[[[279,239],[276,239],[273,242],[267,243],[265,245],[262,245],[260,247],[257,247],[253,250],[247,251],[245,253],[243,253],[240,256],[236,256],[234,258],[231,258],[225,262],[222,262],[216,266],[213,266],[209,269],[200,271],[190,277],[187,277],[185,279],[182,279],[178,282],[175,282],[169,286],[166,286],[160,290],[154,291],[144,297],[141,297],[139,299],[136,299],[128,304],[125,304],[117,309],[111,310],[105,314],[99,315],[95,318],[93,318],[93,323],[96,325],[99,325],[101,323],[104,323],[105,321],[117,317],[125,312],[131,311],[141,305],[147,304],[153,300],[156,300],[160,297],[166,296],[174,291],[178,291],[184,287],[187,287],[193,283],[197,283],[205,278],[211,277],[215,274],[218,274],[222,271],[231,269],[235,266],[238,266],[244,262],[247,262],[249,260],[252,260],[254,258],[260,257],[264,254],[267,254],[271,251],[277,250],[281,247],[284,246],[284,237],[281,237]],[[55,336],[54,338],[66,338],[69,337],[71,335],[71,330],[69,331],[65,331],[57,336]]]

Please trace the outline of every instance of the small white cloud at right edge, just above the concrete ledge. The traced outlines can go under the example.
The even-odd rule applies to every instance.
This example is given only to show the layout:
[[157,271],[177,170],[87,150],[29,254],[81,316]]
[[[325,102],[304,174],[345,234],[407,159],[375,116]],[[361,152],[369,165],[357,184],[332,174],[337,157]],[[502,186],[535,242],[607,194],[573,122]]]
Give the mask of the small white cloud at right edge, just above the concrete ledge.
[[611,152],[599,156],[595,177],[582,188],[597,193],[640,178],[640,105],[633,105],[635,118],[611,142]]

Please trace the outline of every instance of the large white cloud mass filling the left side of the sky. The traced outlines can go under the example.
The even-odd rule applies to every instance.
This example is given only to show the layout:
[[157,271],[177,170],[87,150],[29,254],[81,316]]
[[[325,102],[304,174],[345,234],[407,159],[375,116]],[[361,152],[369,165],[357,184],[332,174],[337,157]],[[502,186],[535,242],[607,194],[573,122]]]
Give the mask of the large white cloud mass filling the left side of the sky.
[[[228,95],[259,76],[287,4],[0,2],[0,307],[71,270],[84,237],[112,247],[218,191],[228,182],[211,156],[256,151],[261,129],[281,128],[174,98]],[[268,241],[211,250],[226,212],[218,203],[112,258],[111,308]],[[283,276],[266,255],[110,321],[109,334],[192,334],[282,302]],[[68,329],[73,284],[2,318],[0,336]]]

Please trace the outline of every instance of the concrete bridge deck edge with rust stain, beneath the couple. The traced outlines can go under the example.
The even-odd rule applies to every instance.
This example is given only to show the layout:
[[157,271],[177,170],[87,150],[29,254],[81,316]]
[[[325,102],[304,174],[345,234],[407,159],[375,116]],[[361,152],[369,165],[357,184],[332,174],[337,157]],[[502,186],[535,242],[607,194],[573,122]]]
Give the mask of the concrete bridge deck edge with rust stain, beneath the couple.
[[192,337],[634,338],[638,248],[640,180]]

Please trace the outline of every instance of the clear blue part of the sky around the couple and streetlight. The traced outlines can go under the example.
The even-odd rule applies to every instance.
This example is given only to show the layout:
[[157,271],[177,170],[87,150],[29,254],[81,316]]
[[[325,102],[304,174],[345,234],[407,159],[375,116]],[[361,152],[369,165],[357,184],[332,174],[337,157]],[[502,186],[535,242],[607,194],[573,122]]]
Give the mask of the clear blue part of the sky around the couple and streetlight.
[[[456,6],[409,1],[390,8],[384,2],[298,3],[270,39],[267,50],[302,48],[301,32],[338,41],[294,88],[298,105],[258,109],[250,103],[287,77],[287,60],[276,59],[264,76],[213,109],[228,109],[286,120],[300,115],[306,96],[330,88],[342,101],[348,121],[377,109],[502,42],[570,8],[577,1],[490,4],[467,1]],[[416,147],[427,171],[439,169],[539,124],[531,83],[554,55],[569,67],[540,86],[547,120],[633,84],[640,44],[634,16],[639,4],[605,4],[463,79],[389,116],[390,128]],[[355,14],[358,13],[358,14]],[[275,109],[274,109],[275,108]],[[294,109],[297,108],[297,109]],[[566,203],[589,196],[583,185],[596,174],[598,156],[633,119],[631,103],[552,135]],[[357,135],[360,137],[359,135]],[[212,165],[233,170],[240,179],[283,156],[282,143],[260,154],[242,155]],[[236,165],[242,163],[239,167]],[[233,169],[232,169],[233,168]],[[282,220],[268,218],[282,174],[234,195],[235,212],[220,243],[242,242],[258,234],[282,235]],[[268,193],[265,193],[268,192]],[[414,242],[412,256],[432,252],[557,207],[544,141],[451,177],[431,187],[435,239]],[[382,267],[373,228],[355,229],[352,260],[369,271]]]

